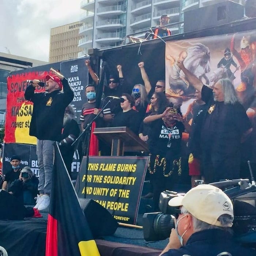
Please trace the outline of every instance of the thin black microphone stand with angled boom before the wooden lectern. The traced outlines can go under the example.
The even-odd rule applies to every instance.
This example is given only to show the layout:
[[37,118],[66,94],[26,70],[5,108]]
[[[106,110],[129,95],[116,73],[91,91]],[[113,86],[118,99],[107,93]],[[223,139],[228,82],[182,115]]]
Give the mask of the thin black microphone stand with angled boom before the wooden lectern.
[[[71,146],[74,146],[74,144],[77,143],[77,141],[80,140],[81,136],[83,136],[84,132],[87,133],[88,136],[88,140],[87,140],[87,149],[86,149],[86,164],[85,164],[85,180],[84,180],[84,198],[86,199],[86,195],[87,195],[87,176],[88,176],[88,166],[89,166],[89,149],[90,149],[90,141],[91,141],[91,125],[92,123],[98,118],[98,116],[103,112],[103,110],[106,108],[106,106],[109,105],[109,103],[112,101],[113,99],[109,99],[109,101],[106,103],[105,106],[103,106],[103,108],[99,111],[99,113],[93,118],[93,120],[91,120],[91,122],[89,124],[87,124],[86,128],[83,130],[83,132],[78,136],[78,138],[71,144]],[[87,138],[87,136],[85,138]],[[80,172],[80,170],[79,170]]]

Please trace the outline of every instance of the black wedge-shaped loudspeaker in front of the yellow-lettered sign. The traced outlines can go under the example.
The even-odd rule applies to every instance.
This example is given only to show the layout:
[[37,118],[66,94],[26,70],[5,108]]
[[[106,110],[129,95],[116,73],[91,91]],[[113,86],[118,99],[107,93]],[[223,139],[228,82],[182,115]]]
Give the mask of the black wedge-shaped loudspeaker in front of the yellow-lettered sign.
[[118,223],[107,209],[92,199],[79,198],[79,202],[94,238],[115,233]]

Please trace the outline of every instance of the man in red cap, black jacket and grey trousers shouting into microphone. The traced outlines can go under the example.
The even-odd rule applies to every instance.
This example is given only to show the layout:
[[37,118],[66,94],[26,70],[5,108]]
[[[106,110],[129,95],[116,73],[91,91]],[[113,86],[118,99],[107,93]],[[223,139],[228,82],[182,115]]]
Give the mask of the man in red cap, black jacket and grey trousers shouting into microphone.
[[68,80],[51,69],[54,75],[47,75],[45,92],[35,93],[37,82],[30,84],[25,91],[25,99],[32,101],[29,135],[37,138],[37,158],[39,168],[39,195],[34,208],[39,211],[50,204],[50,190],[53,169],[53,142],[61,141],[61,130],[66,107],[74,98]]

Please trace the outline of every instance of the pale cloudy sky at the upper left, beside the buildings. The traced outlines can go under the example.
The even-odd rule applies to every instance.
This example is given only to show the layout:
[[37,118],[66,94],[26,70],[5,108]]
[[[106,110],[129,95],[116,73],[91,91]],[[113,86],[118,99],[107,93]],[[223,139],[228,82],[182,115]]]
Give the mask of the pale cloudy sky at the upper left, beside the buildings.
[[79,21],[81,0],[0,0],[0,52],[48,61],[50,29]]

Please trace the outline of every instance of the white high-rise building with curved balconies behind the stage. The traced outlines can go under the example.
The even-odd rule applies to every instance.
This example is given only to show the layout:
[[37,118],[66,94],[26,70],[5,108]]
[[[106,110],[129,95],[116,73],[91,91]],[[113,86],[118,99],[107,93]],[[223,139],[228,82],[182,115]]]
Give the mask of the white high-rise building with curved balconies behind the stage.
[[[183,33],[184,11],[225,0],[82,0],[79,40],[84,57],[88,49],[106,49],[125,45],[127,35],[144,38],[145,30],[159,25],[162,14],[170,16],[172,34]],[[245,0],[233,0],[244,4]],[[140,33],[141,32],[141,33]]]

